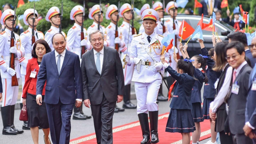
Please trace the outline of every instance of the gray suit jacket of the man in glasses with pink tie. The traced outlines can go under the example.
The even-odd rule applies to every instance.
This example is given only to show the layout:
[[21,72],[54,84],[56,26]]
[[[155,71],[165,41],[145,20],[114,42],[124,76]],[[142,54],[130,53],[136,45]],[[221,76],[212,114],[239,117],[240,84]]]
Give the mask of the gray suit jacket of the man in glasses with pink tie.
[[237,75],[235,82],[239,85],[238,95],[232,93],[228,100],[228,119],[232,134],[243,134],[245,125],[245,108],[248,95],[248,84],[252,68],[246,64]]

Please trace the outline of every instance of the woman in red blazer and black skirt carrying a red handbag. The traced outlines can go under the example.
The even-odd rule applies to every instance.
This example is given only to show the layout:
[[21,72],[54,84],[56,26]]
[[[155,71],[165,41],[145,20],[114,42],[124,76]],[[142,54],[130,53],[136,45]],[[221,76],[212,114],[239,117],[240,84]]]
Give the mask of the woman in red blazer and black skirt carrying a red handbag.
[[[34,143],[38,143],[38,126],[42,128],[44,132],[44,141],[46,144],[50,144],[49,139],[49,123],[46,112],[46,105],[44,102],[45,86],[42,93],[42,105],[36,103],[36,81],[39,67],[43,58],[43,55],[50,52],[51,48],[45,40],[38,40],[35,42],[31,51],[32,57],[28,60],[25,76],[25,84],[23,87],[22,103],[26,105],[29,120],[28,127],[30,127],[31,135]],[[46,85],[46,83],[45,83]]]

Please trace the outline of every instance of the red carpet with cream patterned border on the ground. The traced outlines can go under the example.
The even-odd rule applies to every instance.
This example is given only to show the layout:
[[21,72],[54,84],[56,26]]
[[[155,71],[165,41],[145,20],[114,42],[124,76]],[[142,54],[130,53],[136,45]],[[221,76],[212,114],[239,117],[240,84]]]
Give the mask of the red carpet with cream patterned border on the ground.
[[[180,133],[165,132],[169,113],[159,115],[158,120],[158,144],[181,144],[182,136]],[[205,120],[201,124],[200,141],[211,137],[210,122]],[[141,126],[139,121],[131,122],[126,125],[113,128],[113,144],[139,144],[142,140]],[[192,141],[191,141],[192,143]],[[81,136],[70,140],[70,144],[96,144],[95,133]]]

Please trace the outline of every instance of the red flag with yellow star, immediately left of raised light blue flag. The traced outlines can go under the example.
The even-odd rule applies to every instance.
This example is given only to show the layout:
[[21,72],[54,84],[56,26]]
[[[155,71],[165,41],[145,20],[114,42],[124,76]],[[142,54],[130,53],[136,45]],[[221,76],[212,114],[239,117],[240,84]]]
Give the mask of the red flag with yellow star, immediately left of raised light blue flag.
[[182,37],[182,40],[185,40],[192,35],[194,31],[193,27],[183,20],[179,28],[179,36]]

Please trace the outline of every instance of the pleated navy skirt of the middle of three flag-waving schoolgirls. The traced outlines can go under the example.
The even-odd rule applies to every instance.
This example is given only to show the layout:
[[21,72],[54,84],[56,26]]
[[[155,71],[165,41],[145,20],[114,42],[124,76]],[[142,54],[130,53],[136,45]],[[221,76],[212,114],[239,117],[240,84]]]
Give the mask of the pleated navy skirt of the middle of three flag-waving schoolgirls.
[[192,103],[191,113],[192,113],[194,122],[203,122],[204,121],[202,105],[200,102]]

